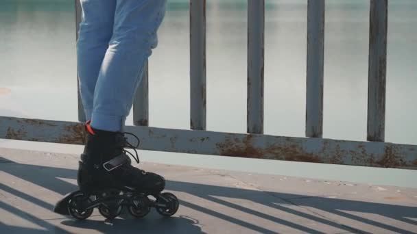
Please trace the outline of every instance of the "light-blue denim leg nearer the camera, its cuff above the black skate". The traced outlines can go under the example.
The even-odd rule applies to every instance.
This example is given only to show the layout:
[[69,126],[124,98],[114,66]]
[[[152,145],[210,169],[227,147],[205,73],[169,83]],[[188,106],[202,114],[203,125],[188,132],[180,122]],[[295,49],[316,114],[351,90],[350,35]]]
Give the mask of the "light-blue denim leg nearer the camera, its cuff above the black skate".
[[156,47],[166,0],[117,0],[115,23],[94,92],[91,127],[121,131],[143,66]]

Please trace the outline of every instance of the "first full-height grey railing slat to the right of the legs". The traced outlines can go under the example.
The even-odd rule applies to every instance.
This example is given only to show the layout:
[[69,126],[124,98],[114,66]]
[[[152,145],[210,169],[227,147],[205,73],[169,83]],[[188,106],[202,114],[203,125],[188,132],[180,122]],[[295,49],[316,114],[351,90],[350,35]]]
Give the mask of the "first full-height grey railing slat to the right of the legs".
[[206,130],[206,0],[190,1],[190,125]]

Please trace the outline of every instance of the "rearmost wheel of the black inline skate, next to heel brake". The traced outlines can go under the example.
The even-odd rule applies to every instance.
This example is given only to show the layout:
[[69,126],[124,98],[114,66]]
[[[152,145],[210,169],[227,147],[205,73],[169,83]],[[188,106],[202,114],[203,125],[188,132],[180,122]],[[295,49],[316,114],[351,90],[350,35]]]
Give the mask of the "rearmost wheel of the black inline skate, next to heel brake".
[[90,217],[93,213],[93,208],[85,209],[91,205],[91,200],[82,192],[73,194],[71,199],[68,202],[68,209],[71,216],[77,218],[78,220],[85,220]]

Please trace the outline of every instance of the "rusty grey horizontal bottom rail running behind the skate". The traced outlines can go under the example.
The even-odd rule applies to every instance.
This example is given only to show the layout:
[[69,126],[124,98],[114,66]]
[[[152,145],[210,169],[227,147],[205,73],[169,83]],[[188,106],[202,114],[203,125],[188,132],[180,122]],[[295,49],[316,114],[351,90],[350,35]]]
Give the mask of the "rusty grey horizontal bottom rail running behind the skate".
[[[417,169],[417,145],[127,126],[140,149],[324,164]],[[0,116],[0,138],[84,144],[78,122]]]

